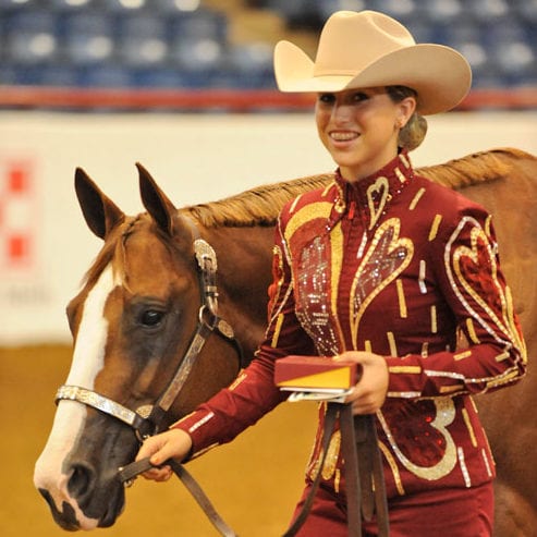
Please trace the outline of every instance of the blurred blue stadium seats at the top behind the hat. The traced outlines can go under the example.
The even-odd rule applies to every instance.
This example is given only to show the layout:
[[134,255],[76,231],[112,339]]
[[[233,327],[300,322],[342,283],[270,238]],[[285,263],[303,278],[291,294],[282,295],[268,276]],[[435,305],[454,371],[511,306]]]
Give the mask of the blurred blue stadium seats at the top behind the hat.
[[[242,3],[278,13],[291,33],[317,33],[337,10],[379,10],[418,42],[463,52],[475,87],[537,84],[537,0]],[[274,87],[273,42],[235,42],[230,13],[199,0],[0,0],[0,84]]]

